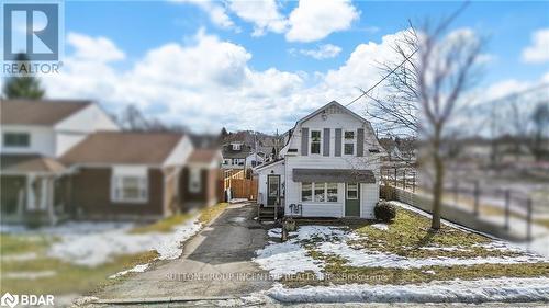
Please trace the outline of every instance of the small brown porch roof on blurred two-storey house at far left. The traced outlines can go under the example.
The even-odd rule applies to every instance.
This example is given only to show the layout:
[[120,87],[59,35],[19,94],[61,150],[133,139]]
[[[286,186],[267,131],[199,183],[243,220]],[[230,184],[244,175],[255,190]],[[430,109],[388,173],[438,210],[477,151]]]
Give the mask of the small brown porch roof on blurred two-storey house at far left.
[[60,172],[65,166],[53,158],[41,155],[2,155],[2,173]]

